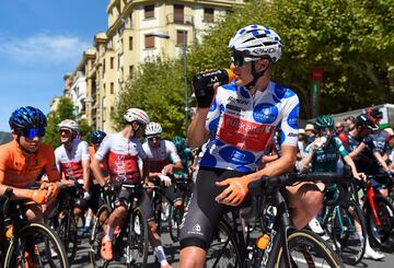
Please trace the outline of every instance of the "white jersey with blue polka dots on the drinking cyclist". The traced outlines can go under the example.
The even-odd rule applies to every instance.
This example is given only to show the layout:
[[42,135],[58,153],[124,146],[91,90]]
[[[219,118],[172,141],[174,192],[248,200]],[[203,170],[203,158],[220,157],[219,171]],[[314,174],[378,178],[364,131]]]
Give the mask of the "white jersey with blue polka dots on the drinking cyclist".
[[254,96],[235,80],[219,86],[207,116],[210,140],[200,166],[253,172],[276,127],[280,144],[297,147],[298,118],[298,96],[274,82]]

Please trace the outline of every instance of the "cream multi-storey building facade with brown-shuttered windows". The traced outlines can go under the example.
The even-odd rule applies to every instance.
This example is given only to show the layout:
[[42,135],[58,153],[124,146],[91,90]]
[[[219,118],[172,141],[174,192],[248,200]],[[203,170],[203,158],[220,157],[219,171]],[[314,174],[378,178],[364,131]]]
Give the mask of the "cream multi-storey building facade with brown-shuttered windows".
[[[184,42],[186,46],[200,42],[207,27],[231,12],[234,4],[243,2],[109,0],[106,10],[108,28],[94,36],[95,53],[88,49],[72,74],[71,89],[83,88],[79,79],[82,74],[85,79],[85,92],[78,92],[85,95],[72,93],[79,112],[93,128],[113,132],[111,117],[115,112],[116,96],[132,78],[136,67],[149,57],[178,57]],[[83,100],[84,107],[80,108]]]

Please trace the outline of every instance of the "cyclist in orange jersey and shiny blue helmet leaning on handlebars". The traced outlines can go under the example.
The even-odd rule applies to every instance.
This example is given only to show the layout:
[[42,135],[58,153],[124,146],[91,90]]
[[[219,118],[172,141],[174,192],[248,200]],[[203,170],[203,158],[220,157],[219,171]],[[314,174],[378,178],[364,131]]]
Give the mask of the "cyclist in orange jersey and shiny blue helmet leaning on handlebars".
[[[47,126],[46,117],[38,108],[24,106],[15,109],[9,120],[13,140],[0,145],[0,196],[7,188],[13,189],[14,199],[28,199],[26,219],[43,222],[42,207],[54,201],[61,188],[60,176],[55,165],[54,150],[42,143]],[[48,182],[39,189],[31,189],[45,170]]]

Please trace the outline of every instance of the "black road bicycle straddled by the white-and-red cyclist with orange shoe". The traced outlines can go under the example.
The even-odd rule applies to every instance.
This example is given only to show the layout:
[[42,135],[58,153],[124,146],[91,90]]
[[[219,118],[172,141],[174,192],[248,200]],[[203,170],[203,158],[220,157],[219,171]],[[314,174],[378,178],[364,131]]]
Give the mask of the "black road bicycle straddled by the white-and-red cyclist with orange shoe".
[[[128,206],[127,215],[124,224],[117,235],[114,236],[113,250],[123,253],[126,258],[127,267],[146,267],[148,261],[148,222],[141,209],[135,200],[136,194],[147,188],[157,188],[157,186],[136,185],[124,182],[121,187],[132,189],[132,198]],[[102,190],[103,193],[103,190]],[[96,213],[96,220],[93,223],[90,244],[90,260],[93,267],[107,267],[111,261],[101,257],[101,242],[104,236],[104,226],[114,207],[115,193],[103,193],[104,205],[100,207]]]

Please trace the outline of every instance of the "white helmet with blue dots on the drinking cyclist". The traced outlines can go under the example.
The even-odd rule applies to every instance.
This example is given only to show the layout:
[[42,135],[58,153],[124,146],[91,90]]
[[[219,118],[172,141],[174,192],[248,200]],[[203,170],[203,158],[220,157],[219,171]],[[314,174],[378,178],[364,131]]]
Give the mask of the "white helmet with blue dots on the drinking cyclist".
[[[251,58],[269,56],[276,62],[281,55],[280,37],[273,30],[262,25],[248,25],[239,30],[229,43],[229,47],[233,50],[243,53],[245,61]],[[251,56],[247,58],[247,56]]]

